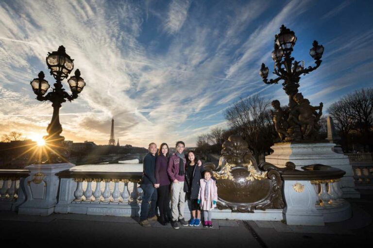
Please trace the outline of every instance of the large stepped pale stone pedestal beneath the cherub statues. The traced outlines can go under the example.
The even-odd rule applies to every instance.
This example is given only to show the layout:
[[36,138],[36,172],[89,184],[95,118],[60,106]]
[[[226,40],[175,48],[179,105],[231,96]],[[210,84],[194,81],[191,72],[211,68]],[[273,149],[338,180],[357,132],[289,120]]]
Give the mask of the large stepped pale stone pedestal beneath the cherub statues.
[[343,198],[360,198],[360,194],[355,190],[352,167],[348,156],[332,151],[333,143],[309,143],[309,144],[276,144],[271,146],[273,154],[266,156],[266,162],[278,167],[285,167],[285,163],[290,161],[296,165],[297,170],[302,166],[312,164],[322,164],[336,167],[346,171],[340,181]]

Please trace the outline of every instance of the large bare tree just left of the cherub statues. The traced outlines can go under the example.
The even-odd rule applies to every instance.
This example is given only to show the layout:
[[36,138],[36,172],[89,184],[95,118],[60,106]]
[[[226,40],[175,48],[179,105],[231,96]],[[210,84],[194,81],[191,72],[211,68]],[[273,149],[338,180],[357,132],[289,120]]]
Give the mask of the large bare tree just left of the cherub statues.
[[254,152],[257,161],[262,153],[269,150],[269,147],[263,146],[267,143],[264,141],[271,136],[268,130],[273,130],[273,127],[268,126],[271,125],[269,106],[271,106],[269,100],[253,95],[241,99],[225,111],[225,119],[249,143],[249,148]]

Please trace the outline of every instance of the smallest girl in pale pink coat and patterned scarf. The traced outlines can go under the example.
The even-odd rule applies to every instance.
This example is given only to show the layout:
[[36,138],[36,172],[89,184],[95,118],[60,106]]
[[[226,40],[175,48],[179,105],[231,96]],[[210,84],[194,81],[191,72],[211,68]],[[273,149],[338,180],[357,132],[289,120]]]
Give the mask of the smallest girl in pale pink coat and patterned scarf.
[[212,228],[211,210],[216,207],[216,201],[218,201],[218,187],[211,178],[212,171],[204,171],[203,177],[204,179],[200,180],[198,203],[203,210],[204,227]]

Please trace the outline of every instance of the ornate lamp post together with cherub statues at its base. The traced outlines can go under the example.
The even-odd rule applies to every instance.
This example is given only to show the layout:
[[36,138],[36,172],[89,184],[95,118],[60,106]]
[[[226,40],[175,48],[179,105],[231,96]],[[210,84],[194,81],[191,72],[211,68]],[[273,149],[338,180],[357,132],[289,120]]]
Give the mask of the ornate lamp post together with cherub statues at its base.
[[[291,52],[297,41],[295,33],[282,25],[280,33],[274,37],[273,74],[278,77],[268,80],[269,69],[264,63],[262,63],[259,74],[266,84],[277,84],[280,80],[284,80],[282,85],[289,97],[289,109],[283,111],[277,100],[276,103],[272,102],[272,106],[276,110],[272,112],[276,131],[282,141],[315,140],[318,131],[317,122],[322,114],[322,103],[319,107],[310,106],[309,101],[303,98],[302,93],[298,93],[298,88],[300,76],[308,74],[320,66],[324,47],[319,45],[317,41],[313,42],[309,54],[315,60],[316,65],[304,68],[300,62],[291,57]],[[320,110],[319,113],[315,111],[316,109]]]

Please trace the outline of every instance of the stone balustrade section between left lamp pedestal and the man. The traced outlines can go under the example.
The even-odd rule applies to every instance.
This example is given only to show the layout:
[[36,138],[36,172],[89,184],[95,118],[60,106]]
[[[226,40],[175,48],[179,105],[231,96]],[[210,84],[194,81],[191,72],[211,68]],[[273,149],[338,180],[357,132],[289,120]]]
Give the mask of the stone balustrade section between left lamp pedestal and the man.
[[138,216],[142,172],[61,171],[56,213]]

